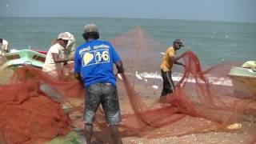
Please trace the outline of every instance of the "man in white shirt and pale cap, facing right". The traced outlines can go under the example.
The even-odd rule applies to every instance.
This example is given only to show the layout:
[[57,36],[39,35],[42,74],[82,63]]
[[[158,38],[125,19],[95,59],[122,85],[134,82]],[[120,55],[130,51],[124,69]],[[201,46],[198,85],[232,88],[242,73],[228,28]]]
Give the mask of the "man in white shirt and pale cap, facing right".
[[57,42],[50,46],[46,54],[46,61],[42,66],[42,71],[50,74],[54,78],[58,78],[58,73],[62,70],[64,62],[68,62],[65,50],[70,40],[70,35],[66,33],[58,34]]

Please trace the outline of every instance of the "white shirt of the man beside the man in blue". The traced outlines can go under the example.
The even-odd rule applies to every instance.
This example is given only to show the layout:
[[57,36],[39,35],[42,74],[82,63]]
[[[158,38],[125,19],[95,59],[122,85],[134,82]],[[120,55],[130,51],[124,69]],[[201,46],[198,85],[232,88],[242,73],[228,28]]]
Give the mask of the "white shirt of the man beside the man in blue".
[[65,48],[59,43],[55,43],[54,46],[51,46],[46,54],[46,61],[42,66],[42,71],[57,78],[58,71],[62,70],[63,62],[54,62],[53,53],[58,54],[58,58],[65,58],[64,50]]

